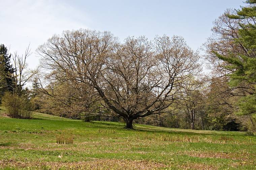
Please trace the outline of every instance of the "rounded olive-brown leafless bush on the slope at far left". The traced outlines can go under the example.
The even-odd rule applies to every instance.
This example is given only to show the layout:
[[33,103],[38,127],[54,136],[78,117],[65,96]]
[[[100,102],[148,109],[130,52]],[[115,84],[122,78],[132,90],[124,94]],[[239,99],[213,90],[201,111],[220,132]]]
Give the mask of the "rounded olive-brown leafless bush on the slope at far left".
[[30,119],[32,104],[25,97],[6,92],[2,98],[2,105],[6,107],[7,112],[12,118]]

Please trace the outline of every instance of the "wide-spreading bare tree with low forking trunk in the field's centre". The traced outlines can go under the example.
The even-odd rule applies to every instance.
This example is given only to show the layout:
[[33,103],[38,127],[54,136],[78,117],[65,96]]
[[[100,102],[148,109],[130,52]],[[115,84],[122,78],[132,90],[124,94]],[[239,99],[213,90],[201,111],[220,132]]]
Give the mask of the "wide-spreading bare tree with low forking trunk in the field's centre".
[[128,37],[109,32],[65,31],[38,48],[47,77],[86,86],[132,128],[134,119],[167,112],[182,99],[185,85],[200,71],[199,56],[181,37]]

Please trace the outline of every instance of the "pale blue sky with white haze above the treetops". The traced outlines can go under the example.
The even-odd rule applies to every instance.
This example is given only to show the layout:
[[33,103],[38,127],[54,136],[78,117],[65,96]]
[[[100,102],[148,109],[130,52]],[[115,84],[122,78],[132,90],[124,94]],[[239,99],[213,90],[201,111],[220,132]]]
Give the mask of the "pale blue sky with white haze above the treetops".
[[128,36],[178,35],[194,50],[211,36],[213,21],[243,0],[0,0],[0,44],[39,65],[36,48],[64,30],[110,31],[122,42]]

